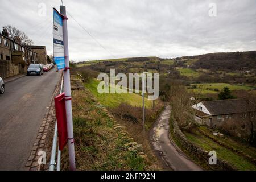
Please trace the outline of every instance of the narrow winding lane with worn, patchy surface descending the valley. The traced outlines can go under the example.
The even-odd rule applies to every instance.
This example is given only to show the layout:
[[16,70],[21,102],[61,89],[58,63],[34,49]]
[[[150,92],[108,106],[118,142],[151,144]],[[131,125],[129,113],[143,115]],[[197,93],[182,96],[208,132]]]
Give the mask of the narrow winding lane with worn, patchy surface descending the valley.
[[174,171],[201,171],[170,139],[171,107],[166,106],[151,130],[151,144],[164,164]]

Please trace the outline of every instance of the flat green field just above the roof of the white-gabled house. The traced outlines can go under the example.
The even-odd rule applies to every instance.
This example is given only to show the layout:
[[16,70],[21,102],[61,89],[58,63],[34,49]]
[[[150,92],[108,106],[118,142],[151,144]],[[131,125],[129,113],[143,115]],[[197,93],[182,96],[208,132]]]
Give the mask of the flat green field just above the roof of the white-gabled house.
[[253,86],[241,86],[241,85],[232,85],[232,84],[226,84],[226,83],[212,83],[212,84],[192,84],[197,85],[196,89],[193,89],[195,91],[202,90],[202,93],[218,93],[218,91],[213,90],[207,90],[207,89],[218,89],[221,91],[225,87],[228,87],[230,90],[251,90],[254,89]]

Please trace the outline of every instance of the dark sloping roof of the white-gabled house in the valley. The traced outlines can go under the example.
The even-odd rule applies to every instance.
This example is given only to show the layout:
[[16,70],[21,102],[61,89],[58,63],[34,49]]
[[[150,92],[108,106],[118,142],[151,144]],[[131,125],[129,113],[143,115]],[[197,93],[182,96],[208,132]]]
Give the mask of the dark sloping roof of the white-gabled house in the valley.
[[245,100],[240,99],[204,101],[202,103],[212,115],[245,113],[252,108],[255,111],[255,106],[251,102],[247,103]]

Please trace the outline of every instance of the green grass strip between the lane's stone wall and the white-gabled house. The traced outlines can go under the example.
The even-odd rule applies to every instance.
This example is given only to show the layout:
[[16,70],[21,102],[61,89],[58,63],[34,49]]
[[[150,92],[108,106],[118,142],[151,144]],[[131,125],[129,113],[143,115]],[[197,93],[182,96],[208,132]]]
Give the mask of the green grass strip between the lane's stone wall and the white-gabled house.
[[[200,133],[185,133],[185,136],[187,137],[188,140],[190,140],[192,143],[195,143],[197,146],[200,146],[205,151],[216,151],[217,158],[229,162],[238,170],[256,170],[255,164],[247,160],[244,156],[239,155],[231,150],[228,150],[224,146],[220,146],[220,144],[214,142],[212,139],[205,137]],[[231,140],[230,138],[226,138],[225,143],[229,144],[230,146],[234,146],[234,148],[237,148],[239,146],[239,150],[245,151],[247,155],[253,154],[255,152],[255,149],[251,149],[246,145],[237,143],[234,140]],[[255,154],[253,154],[253,156],[255,156]]]

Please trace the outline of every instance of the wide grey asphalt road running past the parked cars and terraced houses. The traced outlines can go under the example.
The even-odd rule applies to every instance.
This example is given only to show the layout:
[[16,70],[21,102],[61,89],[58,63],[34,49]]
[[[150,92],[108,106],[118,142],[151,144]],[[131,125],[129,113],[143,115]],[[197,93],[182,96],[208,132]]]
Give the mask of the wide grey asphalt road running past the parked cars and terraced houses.
[[0,170],[24,170],[60,73],[25,76],[0,95]]

